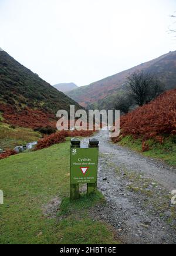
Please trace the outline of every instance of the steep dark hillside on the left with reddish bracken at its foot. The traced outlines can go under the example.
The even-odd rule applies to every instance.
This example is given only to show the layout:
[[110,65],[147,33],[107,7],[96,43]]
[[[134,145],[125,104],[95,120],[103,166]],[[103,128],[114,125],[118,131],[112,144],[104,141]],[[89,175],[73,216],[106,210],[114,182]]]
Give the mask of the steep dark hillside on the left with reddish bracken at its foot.
[[38,75],[0,51],[0,116],[22,127],[56,126],[59,109],[80,106]]

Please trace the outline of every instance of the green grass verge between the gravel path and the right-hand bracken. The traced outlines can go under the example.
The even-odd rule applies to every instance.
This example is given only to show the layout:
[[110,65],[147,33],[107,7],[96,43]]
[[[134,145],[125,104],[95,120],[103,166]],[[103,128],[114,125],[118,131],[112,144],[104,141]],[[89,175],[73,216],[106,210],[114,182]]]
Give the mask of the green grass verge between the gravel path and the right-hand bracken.
[[[124,137],[119,143],[121,146],[127,146],[132,150],[142,152],[142,140],[134,140],[132,136]],[[144,156],[152,157],[155,159],[164,160],[165,163],[171,166],[176,166],[176,138],[165,137],[164,143],[160,144],[154,140],[147,141],[150,150],[143,152]]]

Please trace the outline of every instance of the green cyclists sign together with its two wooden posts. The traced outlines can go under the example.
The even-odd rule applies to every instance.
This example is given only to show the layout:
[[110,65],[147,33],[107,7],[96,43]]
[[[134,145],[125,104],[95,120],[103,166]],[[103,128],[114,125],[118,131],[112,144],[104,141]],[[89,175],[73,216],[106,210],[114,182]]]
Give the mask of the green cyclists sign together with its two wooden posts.
[[89,147],[80,148],[80,140],[71,140],[70,200],[80,197],[79,185],[87,184],[87,196],[97,190],[99,140],[89,141]]

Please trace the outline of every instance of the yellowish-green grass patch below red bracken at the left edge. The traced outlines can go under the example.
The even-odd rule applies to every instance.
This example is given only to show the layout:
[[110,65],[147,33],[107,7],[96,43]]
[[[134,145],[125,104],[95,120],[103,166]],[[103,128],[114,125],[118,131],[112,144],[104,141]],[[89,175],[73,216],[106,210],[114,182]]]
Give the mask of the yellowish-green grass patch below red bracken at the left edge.
[[15,146],[23,146],[26,143],[39,140],[42,135],[39,132],[34,132],[32,129],[11,126],[5,123],[0,123],[0,148],[14,149]]

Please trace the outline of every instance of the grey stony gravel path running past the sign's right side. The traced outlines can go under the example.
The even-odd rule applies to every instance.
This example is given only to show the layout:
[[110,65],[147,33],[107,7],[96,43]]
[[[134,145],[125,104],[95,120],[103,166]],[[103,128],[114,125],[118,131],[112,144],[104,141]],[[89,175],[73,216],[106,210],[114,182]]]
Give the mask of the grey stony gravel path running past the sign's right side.
[[111,143],[107,132],[95,137],[100,141],[98,187],[107,204],[90,214],[113,225],[124,243],[176,244],[176,206],[171,205],[176,170]]

